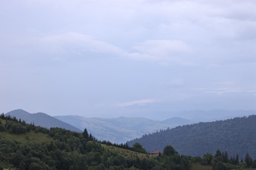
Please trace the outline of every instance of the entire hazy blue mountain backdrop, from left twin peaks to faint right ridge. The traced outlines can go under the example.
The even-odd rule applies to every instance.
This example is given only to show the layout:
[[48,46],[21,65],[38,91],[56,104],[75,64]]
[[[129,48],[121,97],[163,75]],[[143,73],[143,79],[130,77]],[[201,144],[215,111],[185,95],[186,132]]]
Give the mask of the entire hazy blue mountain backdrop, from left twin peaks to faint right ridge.
[[[13,110],[8,112],[11,116],[21,118],[28,123],[33,122],[42,127],[63,127],[72,131],[83,131],[85,128],[92,133],[96,139],[110,141],[112,143],[126,143],[142,135],[154,133],[163,129],[173,128],[196,122],[209,122],[213,120],[224,120],[236,116],[247,116],[255,114],[254,110],[192,110],[178,112],[177,117],[167,120],[150,120],[148,118],[85,118],[83,116],[49,116],[39,112],[30,114],[24,110]],[[173,115],[173,114],[171,114]],[[179,117],[178,117],[179,115]]]

